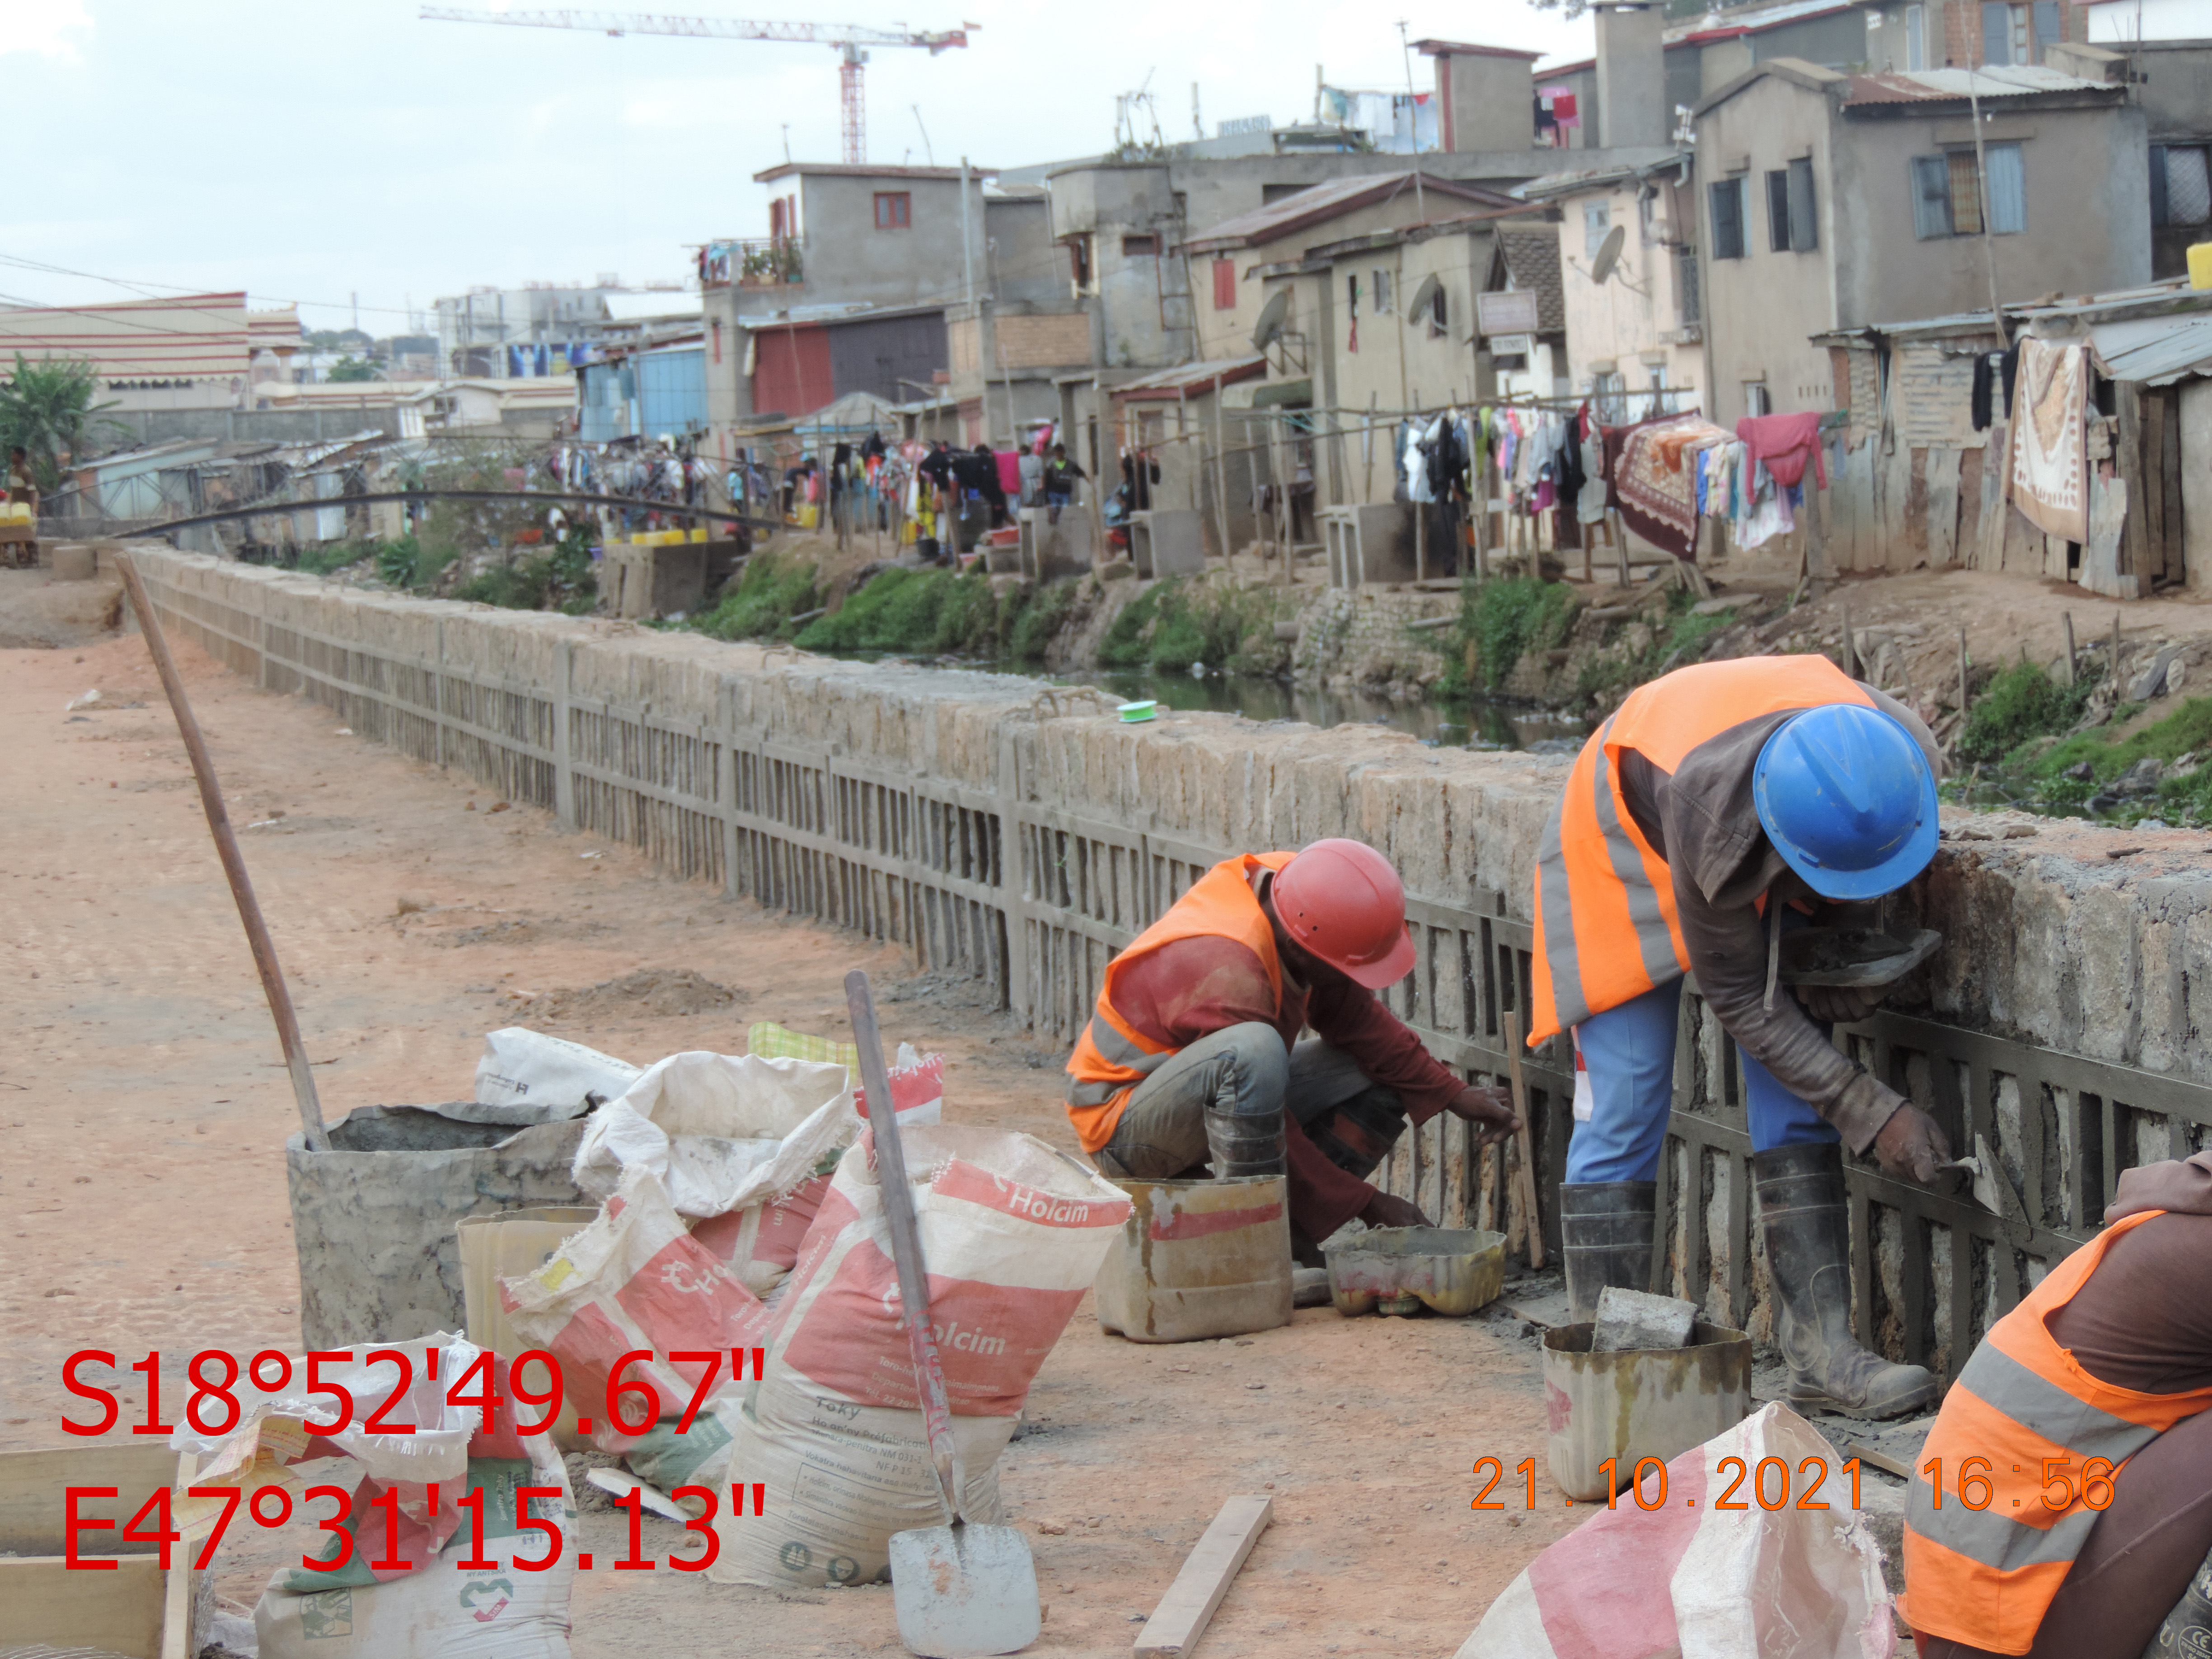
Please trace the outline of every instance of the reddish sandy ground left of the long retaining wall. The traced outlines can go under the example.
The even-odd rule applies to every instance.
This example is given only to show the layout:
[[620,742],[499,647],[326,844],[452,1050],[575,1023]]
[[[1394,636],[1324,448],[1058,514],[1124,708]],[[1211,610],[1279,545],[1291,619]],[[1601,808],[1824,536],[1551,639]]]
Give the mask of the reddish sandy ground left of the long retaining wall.
[[[734,1051],[763,1018],[836,1031],[841,978],[860,964],[887,991],[885,1035],[949,1055],[949,1117],[1073,1146],[1060,1053],[958,987],[914,980],[898,951],[668,880],[538,812],[491,812],[465,779],[184,657],[325,1115],[467,1095],[487,1029],[639,969],[695,971],[737,995],[695,1015],[617,1006],[555,1029],[637,1062]],[[64,712],[93,686],[106,706]],[[170,1407],[192,1349],[296,1349],[281,1155],[296,1117],[144,644],[0,650],[0,1006],[13,1035],[0,1048],[0,1449],[27,1449],[66,1444],[60,1418],[84,1416],[60,1387],[75,1349],[124,1365],[159,1349]],[[400,898],[427,907],[400,916]],[[115,1385],[124,1425],[142,1420],[139,1378],[117,1371]],[[1535,1347],[1502,1314],[1310,1310],[1230,1345],[1139,1347],[1104,1336],[1086,1303],[1002,1462],[1048,1604],[1033,1652],[1126,1652],[1133,1619],[1221,1500],[1272,1489],[1276,1522],[1208,1655],[1449,1655],[1579,1520],[1542,1480],[1533,1513],[1469,1513],[1484,1455],[1509,1469],[1544,1455]],[[617,1524],[584,1520],[580,1546],[599,1566],[575,1586],[580,1659],[732,1641],[896,1650],[885,1588],[774,1595],[613,1573]],[[675,1537],[648,1522],[646,1551],[666,1557]],[[294,1522],[226,1544],[221,1595],[250,1604],[305,1542]]]

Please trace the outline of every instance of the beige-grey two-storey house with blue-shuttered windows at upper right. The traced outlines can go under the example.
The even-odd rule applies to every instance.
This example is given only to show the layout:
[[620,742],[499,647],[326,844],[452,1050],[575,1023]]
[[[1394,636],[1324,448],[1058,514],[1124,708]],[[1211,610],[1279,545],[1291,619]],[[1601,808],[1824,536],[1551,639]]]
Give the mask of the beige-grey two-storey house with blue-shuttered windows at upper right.
[[[1814,334],[2150,276],[2143,113],[2046,66],[1845,75],[1776,58],[1697,106],[1705,414],[1832,409]],[[1978,155],[1980,150],[1980,155]],[[1980,157],[1986,157],[1989,228]]]

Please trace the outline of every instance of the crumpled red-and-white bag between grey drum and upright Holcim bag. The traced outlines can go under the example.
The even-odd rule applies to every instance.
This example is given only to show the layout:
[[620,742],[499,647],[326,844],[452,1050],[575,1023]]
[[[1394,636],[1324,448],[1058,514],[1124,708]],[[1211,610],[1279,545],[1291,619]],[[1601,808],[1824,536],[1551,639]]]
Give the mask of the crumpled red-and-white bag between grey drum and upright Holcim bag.
[[[765,1345],[770,1318],[761,1298],[690,1237],[646,1166],[624,1170],[599,1219],[544,1267],[502,1279],[500,1303],[515,1336],[560,1360],[562,1387],[591,1418],[593,1442],[617,1453],[650,1433],[653,1422],[681,1418],[706,1378],[706,1360],[677,1360],[672,1352],[719,1354],[719,1391],[730,1383],[730,1349]],[[608,1402],[617,1363],[637,1349],[653,1356],[622,1367],[622,1383],[648,1383],[657,1409],[635,1389],[619,1405]]]

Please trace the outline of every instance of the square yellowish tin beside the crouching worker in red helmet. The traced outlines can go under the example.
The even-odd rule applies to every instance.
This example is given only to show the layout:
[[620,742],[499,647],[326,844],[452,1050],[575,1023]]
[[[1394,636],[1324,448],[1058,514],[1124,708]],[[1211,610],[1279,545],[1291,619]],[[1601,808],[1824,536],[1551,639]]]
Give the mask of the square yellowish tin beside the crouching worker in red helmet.
[[1133,1343],[1197,1343],[1290,1323],[1290,1183],[1115,1181],[1130,1197],[1093,1294],[1099,1327]]

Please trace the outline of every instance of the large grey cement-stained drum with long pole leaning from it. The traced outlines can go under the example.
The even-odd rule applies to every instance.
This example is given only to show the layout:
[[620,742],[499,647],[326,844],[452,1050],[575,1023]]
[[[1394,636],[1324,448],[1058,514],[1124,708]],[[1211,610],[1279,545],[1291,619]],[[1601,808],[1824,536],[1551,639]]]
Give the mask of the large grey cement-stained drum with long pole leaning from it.
[[582,1106],[363,1106],[330,1150],[285,1141],[299,1334],[310,1349],[467,1325],[462,1217],[591,1203],[568,1175]]

